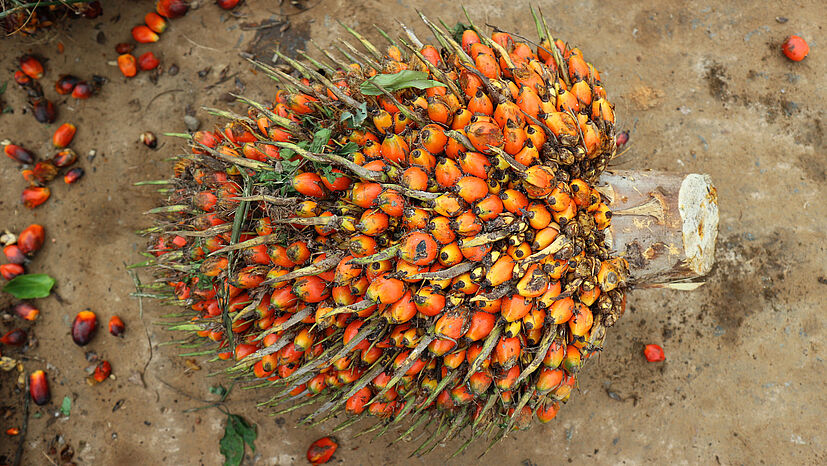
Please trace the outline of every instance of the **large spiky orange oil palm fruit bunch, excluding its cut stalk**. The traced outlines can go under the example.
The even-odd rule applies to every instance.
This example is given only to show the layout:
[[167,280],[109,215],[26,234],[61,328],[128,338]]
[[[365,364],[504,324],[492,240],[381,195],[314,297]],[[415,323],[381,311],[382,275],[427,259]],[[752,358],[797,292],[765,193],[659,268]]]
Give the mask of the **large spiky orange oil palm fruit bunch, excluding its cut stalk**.
[[274,102],[182,135],[146,262],[187,310],[172,328],[209,345],[193,354],[234,361],[263,405],[436,422],[418,452],[554,418],[628,275],[604,242],[615,119],[594,66],[541,15],[539,44],[422,19],[438,46],[402,26],[383,53],[345,27],[364,50],[256,63]]

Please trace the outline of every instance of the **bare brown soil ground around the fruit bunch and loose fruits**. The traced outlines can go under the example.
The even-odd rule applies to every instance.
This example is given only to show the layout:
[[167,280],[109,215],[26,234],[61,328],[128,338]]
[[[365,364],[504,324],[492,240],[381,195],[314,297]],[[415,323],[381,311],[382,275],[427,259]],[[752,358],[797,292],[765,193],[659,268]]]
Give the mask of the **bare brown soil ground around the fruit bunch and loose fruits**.
[[[248,0],[237,17],[209,1],[173,21],[162,39],[140,52],[161,57],[157,83],[149,73],[124,78],[108,64],[114,45],[150,11],[152,2],[104,2],[96,20],[70,21],[36,37],[0,40],[2,98],[13,113],[0,115],[0,139],[9,138],[48,156],[56,125],[35,122],[25,95],[11,80],[16,57],[46,58],[42,82],[59,105],[58,123],[78,133],[72,147],[87,174],[77,185],[52,184],[46,204],[31,211],[19,202],[25,182],[12,162],[0,162],[0,227],[19,231],[37,222],[48,242],[31,271],[57,279],[56,293],[37,301],[42,315],[31,333],[36,345],[23,356],[26,369],[48,369],[53,401],[32,405],[23,464],[57,464],[48,458],[58,439],[71,445],[77,464],[220,464],[218,441],[225,417],[215,409],[185,413],[214,399],[205,377],[218,369],[198,361],[193,370],[180,351],[161,346],[176,335],[156,325],[169,312],[144,300],[143,317],[125,264],[138,261],[149,225],[142,212],[161,196],[143,180],[168,176],[167,158],[180,140],[187,109],[209,127],[217,120],[203,106],[243,108],[228,92],[270,100],[273,83],[256,74],[239,52],[262,58],[273,47],[322,46],[342,34],[336,19],[381,40],[371,24],[396,31],[395,18],[430,37],[415,9],[453,22],[459,2],[311,0],[304,12],[276,1]],[[479,23],[534,36],[524,0],[465,1]],[[824,102],[827,75],[822,2],[554,2],[542,5],[559,37],[580,47],[600,69],[620,126],[631,130],[622,168],[709,173],[718,188],[721,223],[717,265],[695,292],[636,290],[630,309],[590,363],[578,392],[553,422],[515,433],[482,461],[491,464],[589,462],[701,464],[824,464],[827,462],[827,378],[824,312],[827,302],[827,147]],[[283,16],[289,13],[291,16]],[[783,20],[777,17],[785,17]],[[253,30],[262,20],[290,28]],[[256,35],[263,34],[256,41]],[[780,53],[788,34],[805,37],[810,56],[793,63]],[[57,52],[62,42],[65,51]],[[171,65],[179,72],[172,75]],[[210,69],[200,77],[199,71]],[[222,82],[224,77],[230,78]],[[58,98],[60,74],[108,78],[86,101]],[[142,131],[160,137],[158,150],[138,142]],[[90,150],[94,158],[87,157]],[[149,277],[143,277],[145,280]],[[59,296],[59,298],[58,298]],[[0,309],[11,304],[0,297]],[[105,323],[113,314],[127,325],[124,339],[105,329],[86,348],[71,343],[73,316],[93,309]],[[20,321],[0,323],[5,332]],[[641,347],[658,343],[664,363],[646,363]],[[5,354],[21,356],[3,348]],[[90,387],[86,351],[111,361],[115,378]],[[0,405],[13,407],[3,430],[22,422],[23,394],[16,374],[0,374]],[[226,384],[226,382],[223,382]],[[64,396],[69,417],[56,415]],[[330,425],[296,427],[297,414],[271,417],[255,408],[266,393],[234,390],[227,408],[258,425],[255,454],[246,464],[301,464],[309,443]],[[336,460],[346,464],[420,464],[445,461],[456,447],[408,459],[411,444],[388,446],[386,437],[338,435]],[[369,437],[369,436],[368,436]],[[0,455],[13,457],[19,437],[0,433]],[[476,464],[484,445],[457,464]],[[58,448],[59,449],[59,448]],[[0,463],[3,461],[0,460]]]

